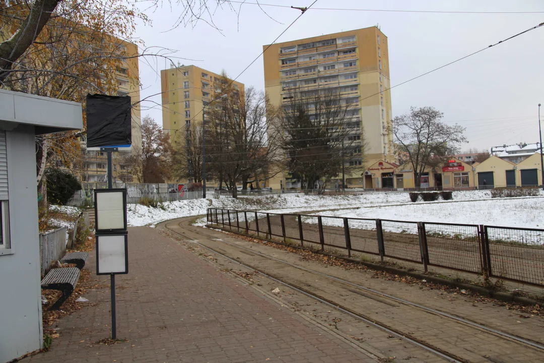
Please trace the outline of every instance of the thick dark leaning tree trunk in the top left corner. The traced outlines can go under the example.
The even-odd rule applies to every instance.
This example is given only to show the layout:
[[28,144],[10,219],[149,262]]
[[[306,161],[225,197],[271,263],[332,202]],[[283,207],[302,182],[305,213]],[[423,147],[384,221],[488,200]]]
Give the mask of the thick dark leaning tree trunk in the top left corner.
[[0,43],[0,82],[9,76],[17,59],[40,35],[59,2],[59,0],[36,0],[21,28],[9,40]]

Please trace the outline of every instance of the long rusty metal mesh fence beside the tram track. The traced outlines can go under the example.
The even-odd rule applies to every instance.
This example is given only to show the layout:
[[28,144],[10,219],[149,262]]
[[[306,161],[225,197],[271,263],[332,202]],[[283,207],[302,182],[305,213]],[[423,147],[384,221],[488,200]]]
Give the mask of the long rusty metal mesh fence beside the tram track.
[[302,247],[352,251],[544,286],[544,229],[208,208],[208,224]]

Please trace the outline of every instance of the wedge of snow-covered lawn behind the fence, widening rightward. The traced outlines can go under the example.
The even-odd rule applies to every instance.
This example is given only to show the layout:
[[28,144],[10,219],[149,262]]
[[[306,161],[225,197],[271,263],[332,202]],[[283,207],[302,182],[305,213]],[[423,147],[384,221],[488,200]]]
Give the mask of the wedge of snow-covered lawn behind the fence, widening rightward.
[[544,198],[413,203],[401,206],[325,211],[317,214],[331,217],[544,228]]

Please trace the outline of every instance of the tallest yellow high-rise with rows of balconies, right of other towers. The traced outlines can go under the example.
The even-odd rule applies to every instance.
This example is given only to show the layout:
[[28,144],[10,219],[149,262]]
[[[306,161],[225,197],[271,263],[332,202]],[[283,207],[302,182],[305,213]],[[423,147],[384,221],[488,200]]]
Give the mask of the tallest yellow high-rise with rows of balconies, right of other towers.
[[[387,37],[377,27],[278,43],[264,52],[265,91],[273,104],[289,103],[293,92],[333,89],[353,106],[350,122],[361,121],[366,150],[360,161],[346,161],[355,167],[346,175],[349,187],[364,187],[369,165],[394,161],[387,132],[392,117],[389,72]],[[333,182],[341,184],[341,177]],[[283,175],[271,180],[270,186],[298,185]]]

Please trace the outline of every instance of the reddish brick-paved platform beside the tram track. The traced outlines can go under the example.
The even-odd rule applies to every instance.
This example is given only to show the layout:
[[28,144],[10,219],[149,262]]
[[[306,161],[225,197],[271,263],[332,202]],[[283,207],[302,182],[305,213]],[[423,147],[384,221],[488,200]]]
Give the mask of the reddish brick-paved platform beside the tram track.
[[149,227],[129,229],[129,274],[116,278],[118,338],[110,336],[109,276],[58,323],[49,352],[24,361],[355,362],[360,350],[281,307]]

